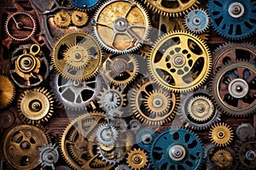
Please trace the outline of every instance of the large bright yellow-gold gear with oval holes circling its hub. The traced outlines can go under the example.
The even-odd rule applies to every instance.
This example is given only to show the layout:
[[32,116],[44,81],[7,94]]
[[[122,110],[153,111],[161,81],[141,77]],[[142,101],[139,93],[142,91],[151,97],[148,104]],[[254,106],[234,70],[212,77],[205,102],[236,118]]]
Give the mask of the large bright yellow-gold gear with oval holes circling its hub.
[[199,88],[212,69],[207,44],[188,32],[174,31],[160,37],[150,51],[148,67],[154,80],[173,92]]

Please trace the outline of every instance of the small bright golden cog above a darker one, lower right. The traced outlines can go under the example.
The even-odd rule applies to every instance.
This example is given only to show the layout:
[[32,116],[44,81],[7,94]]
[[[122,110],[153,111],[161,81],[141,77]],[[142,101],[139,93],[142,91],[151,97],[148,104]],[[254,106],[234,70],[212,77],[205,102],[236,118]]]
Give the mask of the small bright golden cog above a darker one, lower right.
[[234,133],[230,125],[224,122],[218,122],[211,127],[209,137],[213,144],[219,147],[225,147],[232,142]]

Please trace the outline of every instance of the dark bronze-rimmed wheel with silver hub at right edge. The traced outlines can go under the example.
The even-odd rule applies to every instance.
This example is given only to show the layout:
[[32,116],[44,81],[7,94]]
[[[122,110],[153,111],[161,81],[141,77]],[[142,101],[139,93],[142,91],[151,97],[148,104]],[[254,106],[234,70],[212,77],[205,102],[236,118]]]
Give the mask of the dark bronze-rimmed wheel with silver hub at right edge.
[[224,65],[212,78],[212,96],[220,111],[231,116],[255,112],[256,67],[236,61]]

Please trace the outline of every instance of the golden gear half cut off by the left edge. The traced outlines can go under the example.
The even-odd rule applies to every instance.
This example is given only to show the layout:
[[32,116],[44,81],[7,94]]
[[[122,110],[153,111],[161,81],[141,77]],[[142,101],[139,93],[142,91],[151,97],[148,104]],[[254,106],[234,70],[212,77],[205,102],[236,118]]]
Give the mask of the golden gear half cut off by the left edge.
[[7,107],[15,98],[15,85],[9,77],[0,75],[0,109]]

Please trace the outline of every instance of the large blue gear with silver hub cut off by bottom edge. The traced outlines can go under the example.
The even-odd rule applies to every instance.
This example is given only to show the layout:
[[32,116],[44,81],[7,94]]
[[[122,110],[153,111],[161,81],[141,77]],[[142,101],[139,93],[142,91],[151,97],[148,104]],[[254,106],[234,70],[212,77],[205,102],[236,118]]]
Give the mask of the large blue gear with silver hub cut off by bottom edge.
[[198,169],[204,159],[201,140],[191,131],[173,127],[158,135],[150,147],[154,169]]

